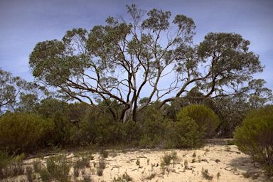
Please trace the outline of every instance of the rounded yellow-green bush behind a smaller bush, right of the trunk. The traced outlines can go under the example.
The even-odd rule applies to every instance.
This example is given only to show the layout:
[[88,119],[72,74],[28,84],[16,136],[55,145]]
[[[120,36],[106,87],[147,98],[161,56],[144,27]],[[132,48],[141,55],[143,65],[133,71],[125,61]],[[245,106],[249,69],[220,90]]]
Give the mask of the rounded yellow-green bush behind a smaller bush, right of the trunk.
[[177,119],[191,117],[198,124],[198,132],[203,132],[205,128],[205,138],[212,137],[215,129],[218,128],[220,121],[212,109],[205,105],[188,105],[181,109],[176,116]]

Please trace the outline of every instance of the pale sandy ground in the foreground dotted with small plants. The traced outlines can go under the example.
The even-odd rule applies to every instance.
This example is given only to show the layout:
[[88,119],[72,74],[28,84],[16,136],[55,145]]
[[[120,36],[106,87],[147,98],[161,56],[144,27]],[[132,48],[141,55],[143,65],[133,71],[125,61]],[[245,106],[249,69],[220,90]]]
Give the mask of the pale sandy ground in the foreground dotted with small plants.
[[[238,151],[237,146],[227,145],[221,140],[211,141],[203,148],[193,150],[164,149],[131,149],[127,151],[109,151],[105,159],[105,169],[102,176],[97,175],[97,166],[102,160],[100,153],[92,153],[90,168],[85,168],[84,175],[91,176],[91,181],[114,181],[127,174],[132,181],[273,181],[267,178],[250,156]],[[177,159],[168,166],[162,166],[163,157],[176,154]],[[66,154],[75,161],[77,154]],[[40,159],[45,165],[48,156]],[[25,164],[29,163],[29,159]],[[185,161],[188,161],[186,165]],[[211,179],[205,178],[202,171],[207,171]],[[246,178],[246,174],[250,176]],[[70,170],[73,176],[73,168]],[[83,181],[82,174],[72,178],[73,181]],[[125,181],[125,180],[124,180]]]

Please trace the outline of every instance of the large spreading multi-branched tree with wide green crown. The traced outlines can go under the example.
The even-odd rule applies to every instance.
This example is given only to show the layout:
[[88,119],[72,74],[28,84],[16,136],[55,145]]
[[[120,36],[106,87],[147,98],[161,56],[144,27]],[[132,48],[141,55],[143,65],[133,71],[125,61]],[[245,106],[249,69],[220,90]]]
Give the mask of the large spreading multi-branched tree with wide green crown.
[[134,4],[127,12],[128,20],[109,17],[105,26],[37,43],[29,60],[33,76],[80,102],[105,100],[115,120],[127,121],[152,101],[164,105],[192,87],[203,97],[247,92],[245,84],[263,70],[259,56],[248,50],[250,41],[237,33],[208,33],[193,45],[192,18],[178,14],[170,21],[170,11],[146,14]]

